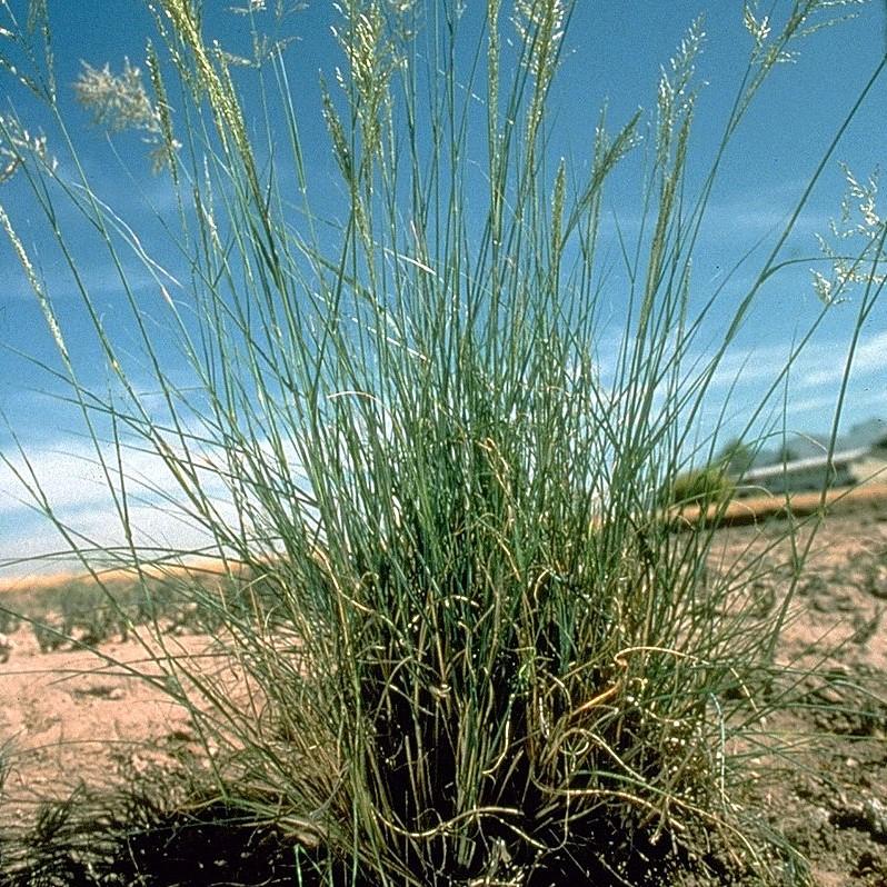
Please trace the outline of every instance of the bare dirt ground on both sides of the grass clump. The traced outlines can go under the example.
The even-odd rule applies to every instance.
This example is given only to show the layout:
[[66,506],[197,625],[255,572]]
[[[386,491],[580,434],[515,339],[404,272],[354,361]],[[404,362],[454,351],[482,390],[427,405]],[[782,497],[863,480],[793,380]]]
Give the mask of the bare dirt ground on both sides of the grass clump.
[[[777,544],[784,534],[778,517],[724,528],[712,558],[760,556],[774,568],[760,594],[778,600],[790,582],[790,546]],[[798,545],[805,541],[800,534]],[[804,704],[768,726],[804,738],[784,767],[761,760],[745,800],[807,856],[820,887],[887,885],[887,498],[835,509],[815,537],[795,601],[778,656],[799,672],[818,666],[818,675],[799,678]],[[84,650],[41,652],[27,626],[12,640],[0,664],[0,749],[6,743],[11,766],[0,820],[27,818],[40,797],[81,779],[101,786],[199,757],[187,712],[160,687]],[[195,656],[208,652],[211,640],[188,635],[165,642],[175,655]],[[134,671],[157,674],[137,641],[103,651]]]

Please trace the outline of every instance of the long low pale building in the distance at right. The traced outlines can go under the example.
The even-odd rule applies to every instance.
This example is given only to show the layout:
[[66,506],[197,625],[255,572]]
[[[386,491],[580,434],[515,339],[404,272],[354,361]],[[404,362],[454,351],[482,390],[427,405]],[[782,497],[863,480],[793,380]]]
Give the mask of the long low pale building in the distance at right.
[[828,456],[828,438],[798,437],[778,454],[759,454],[737,478],[737,494],[784,495],[887,482],[887,422],[871,419],[855,426],[835,442]]

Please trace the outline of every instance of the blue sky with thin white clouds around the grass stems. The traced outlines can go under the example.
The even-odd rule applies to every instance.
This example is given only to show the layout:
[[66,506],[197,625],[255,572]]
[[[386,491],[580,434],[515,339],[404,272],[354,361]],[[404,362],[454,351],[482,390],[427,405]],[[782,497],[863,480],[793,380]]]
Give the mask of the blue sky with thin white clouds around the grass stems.
[[[480,6],[477,0],[466,3],[466,46],[471,42],[472,29],[479,33]],[[508,6],[508,0],[504,6]],[[764,0],[758,4],[758,18],[771,10],[774,26],[778,27],[789,6]],[[746,70],[751,40],[743,27],[743,7],[740,0],[579,0],[550,96],[554,132],[548,150],[571,162],[585,162],[605,102],[614,128],[626,122],[638,108],[651,112],[660,66],[675,54],[690,22],[702,16],[706,38],[697,68],[705,87],[698,103],[689,170],[690,180],[700,177],[715,156]],[[24,0],[9,0],[9,9],[20,22],[27,19]],[[133,64],[143,63],[146,37],[152,28],[146,4],[133,0],[48,0],[48,10],[62,114],[81,161],[101,182],[102,198],[138,227],[149,242],[157,228],[140,201],[149,200],[161,212],[165,206],[169,208],[168,180],[163,175],[151,178],[146,172],[144,146],[138,137],[119,134],[109,141],[77,104],[72,90],[83,61],[96,68],[109,62],[114,71],[122,69],[124,58]],[[743,121],[724,161],[694,265],[697,301],[724,286],[724,305],[711,318],[712,329],[718,322],[726,322],[747,291],[766,258],[766,243],[774,242],[885,52],[885,3],[876,0],[853,4],[845,11],[856,12],[857,18],[811,34],[797,46],[799,54],[793,63],[779,66]],[[4,14],[0,7],[0,19]],[[232,51],[247,51],[246,18],[233,14],[229,3],[206,0],[205,18],[207,30],[223,46]],[[287,68],[307,146],[309,178],[316,183],[315,195],[321,211],[332,211],[335,205],[335,188],[327,185],[331,181],[333,159],[317,89],[318,72],[322,70],[331,79],[333,67],[341,63],[330,32],[333,21],[330,0],[311,0],[305,10],[281,26],[286,34],[297,38],[287,52]],[[0,27],[10,26],[0,20]],[[0,37],[0,58],[20,61],[3,37]],[[467,60],[467,54],[457,58],[459,63]],[[249,90],[249,81],[245,82]],[[0,97],[3,96],[9,101],[3,102],[0,113],[8,114],[14,108],[29,131],[36,133],[47,127],[49,132],[46,111],[16,84],[8,70],[0,71]],[[840,213],[846,182],[839,161],[860,182],[878,165],[884,166],[887,158],[884,120],[887,120],[887,78],[876,83],[810,195],[786,245],[785,256],[793,263],[763,288],[746,328],[715,379],[716,393],[730,391],[736,405],[730,419],[734,423],[741,422],[748,405],[759,401],[761,392],[785,365],[791,343],[821,312],[821,301],[811,285],[811,270],[828,271],[828,267],[817,260],[815,235],[827,233],[829,220]],[[52,144],[51,139],[49,143]],[[639,177],[639,160],[629,161],[608,192],[605,233],[609,231],[610,239],[606,236],[604,239],[605,262],[618,265],[617,222],[629,233],[637,229]],[[329,206],[325,203],[327,200]],[[46,238],[33,196],[21,177],[0,185],[0,206],[46,280],[60,321],[73,343],[74,358],[88,363],[89,352],[79,352],[77,345],[80,333],[86,336],[88,320],[78,307],[58,251]],[[883,207],[879,211],[884,212]],[[121,296],[112,269],[101,260],[89,261],[89,232],[82,229],[76,213],[63,212],[60,221],[68,226],[72,248],[87,259],[84,276],[92,295],[106,307],[111,332],[126,341],[131,330],[124,321],[117,321],[122,313]],[[731,271],[757,243],[764,246]],[[146,303],[156,298],[150,276],[134,272],[132,282],[137,297],[143,296]],[[791,396],[786,402],[787,425],[791,429],[818,433],[829,428],[859,299],[858,292],[849,293],[846,300],[830,308],[810,346],[798,358],[793,370]],[[616,327],[621,310],[618,300],[614,300],[609,313]],[[162,339],[163,335],[165,330],[159,329],[158,337]],[[168,357],[170,372],[175,375],[180,367],[171,346]],[[90,539],[100,542],[117,539],[119,530],[96,466],[89,461],[88,441],[72,411],[59,400],[59,386],[39,366],[40,362],[56,366],[54,361],[52,338],[14,250],[8,240],[0,239],[0,452],[21,468],[20,445],[58,514],[80,527]],[[873,417],[887,419],[887,300],[875,306],[863,326],[846,402],[844,429]],[[136,475],[151,476],[156,470],[151,458],[143,454],[130,457],[129,465]],[[187,526],[159,517],[156,509],[147,506],[139,517],[155,538],[175,537],[188,544]],[[0,561],[34,558],[61,547],[58,534],[28,504],[28,492],[13,472],[0,464]],[[6,565],[10,572],[39,568],[40,565],[31,561]]]

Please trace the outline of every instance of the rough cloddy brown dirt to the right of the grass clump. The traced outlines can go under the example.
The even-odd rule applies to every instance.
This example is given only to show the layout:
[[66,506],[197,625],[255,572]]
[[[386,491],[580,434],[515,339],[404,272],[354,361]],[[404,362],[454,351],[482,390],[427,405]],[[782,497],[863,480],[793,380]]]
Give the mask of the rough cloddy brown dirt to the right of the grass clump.
[[[778,600],[791,572],[790,545],[776,544],[784,521],[718,532],[727,561],[767,552],[774,572],[759,590]],[[784,766],[761,761],[745,799],[807,857],[818,887],[887,886],[886,608],[887,499],[869,497],[814,537],[778,651],[801,701],[767,725],[797,737],[797,751]]]

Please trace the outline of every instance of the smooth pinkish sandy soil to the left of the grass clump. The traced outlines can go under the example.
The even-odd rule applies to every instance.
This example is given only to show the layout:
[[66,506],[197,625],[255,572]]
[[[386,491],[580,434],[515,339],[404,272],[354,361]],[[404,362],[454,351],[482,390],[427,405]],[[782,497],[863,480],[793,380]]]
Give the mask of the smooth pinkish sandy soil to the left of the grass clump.
[[[137,640],[89,650],[41,652],[23,627],[11,636],[14,649],[0,665],[0,741],[8,744],[9,777],[0,805],[0,823],[29,818],[47,796],[64,796],[79,783],[100,788],[120,775],[149,765],[170,764],[199,750],[191,719],[161,686],[152,656]],[[207,654],[210,640],[190,636],[165,639],[172,656]]]

